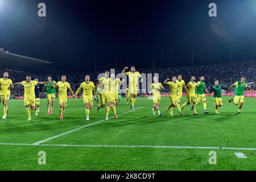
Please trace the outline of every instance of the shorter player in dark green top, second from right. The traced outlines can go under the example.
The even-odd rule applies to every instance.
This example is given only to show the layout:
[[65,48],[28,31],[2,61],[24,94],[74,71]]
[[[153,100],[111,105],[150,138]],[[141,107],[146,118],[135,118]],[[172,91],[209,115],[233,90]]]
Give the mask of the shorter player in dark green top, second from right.
[[222,95],[221,95],[221,90],[228,90],[226,89],[224,86],[220,85],[218,80],[216,80],[214,82],[214,86],[210,89],[210,93],[214,93],[213,94],[213,98],[214,98],[214,104],[215,104],[215,113],[219,114],[218,112],[218,107],[221,107],[223,105],[222,102]]

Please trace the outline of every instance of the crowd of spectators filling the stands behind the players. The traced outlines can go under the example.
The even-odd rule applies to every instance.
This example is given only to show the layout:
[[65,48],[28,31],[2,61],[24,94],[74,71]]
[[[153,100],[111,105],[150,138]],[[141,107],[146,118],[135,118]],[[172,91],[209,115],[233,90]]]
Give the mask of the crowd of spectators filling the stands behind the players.
[[[76,90],[80,83],[84,81],[85,75],[90,75],[90,80],[95,84],[97,82],[98,75],[104,73],[105,70],[98,72],[67,72],[56,71],[55,69],[48,69],[44,75],[42,73],[30,73],[23,69],[10,69],[8,70],[9,76],[13,82],[21,82],[25,80],[27,74],[31,74],[32,77],[36,77],[39,81],[47,81],[47,75],[52,75],[54,80],[60,80],[61,73],[66,73],[67,81],[71,84],[73,90]],[[256,89],[256,61],[243,61],[233,64],[214,64],[214,65],[199,65],[195,67],[176,67],[176,68],[155,68],[155,69],[141,69],[137,68],[140,73],[154,73],[159,74],[159,82],[163,82],[166,78],[172,79],[172,76],[181,75],[183,80],[187,83],[190,81],[191,76],[196,77],[196,81],[199,81],[201,76],[205,77],[205,84],[209,89],[214,84],[214,81],[219,80],[220,84],[228,87],[239,81],[241,76],[246,77],[246,82],[250,82],[251,89]],[[0,69],[0,72],[5,72],[5,69]],[[122,72],[122,68],[115,70],[115,74]],[[165,92],[168,92],[166,87]],[[12,92],[13,96],[23,96],[24,90],[22,86],[15,87]]]

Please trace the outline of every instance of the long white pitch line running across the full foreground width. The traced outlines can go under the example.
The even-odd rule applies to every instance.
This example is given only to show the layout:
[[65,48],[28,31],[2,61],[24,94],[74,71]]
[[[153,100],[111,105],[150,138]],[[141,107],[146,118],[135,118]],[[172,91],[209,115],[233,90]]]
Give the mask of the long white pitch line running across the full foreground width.
[[183,149],[220,149],[220,150],[250,150],[256,151],[256,148],[238,148],[238,147],[193,147],[193,146],[118,146],[118,145],[100,145],[100,144],[30,144],[30,143],[0,143],[0,146],[46,146],[46,147],[105,147],[105,148],[183,148]]

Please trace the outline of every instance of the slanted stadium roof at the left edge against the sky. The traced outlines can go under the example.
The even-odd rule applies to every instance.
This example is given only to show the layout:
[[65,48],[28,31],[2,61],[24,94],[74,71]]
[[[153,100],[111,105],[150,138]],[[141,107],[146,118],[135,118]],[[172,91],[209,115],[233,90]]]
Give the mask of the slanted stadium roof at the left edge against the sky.
[[36,64],[51,64],[51,62],[35,59],[32,57],[16,55],[15,53],[10,53],[9,51],[4,51],[3,49],[0,49],[0,65],[1,64],[15,65],[18,67],[26,67],[28,65],[36,65]]

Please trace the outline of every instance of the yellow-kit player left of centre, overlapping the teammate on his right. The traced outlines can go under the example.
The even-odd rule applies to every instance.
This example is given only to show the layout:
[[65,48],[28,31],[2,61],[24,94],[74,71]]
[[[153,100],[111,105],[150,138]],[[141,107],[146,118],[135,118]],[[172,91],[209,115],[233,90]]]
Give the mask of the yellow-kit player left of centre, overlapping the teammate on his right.
[[109,110],[110,110],[110,77],[109,77],[109,71],[105,71],[105,76],[101,77],[100,80],[98,80],[96,86],[95,86],[95,91],[98,89],[98,85],[102,84],[101,86],[101,104],[98,105],[98,111],[100,108],[105,107],[106,104],[106,114],[105,114],[105,119],[109,120]]

